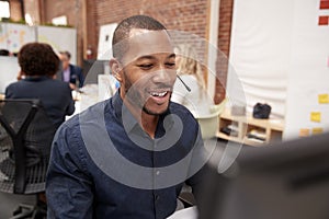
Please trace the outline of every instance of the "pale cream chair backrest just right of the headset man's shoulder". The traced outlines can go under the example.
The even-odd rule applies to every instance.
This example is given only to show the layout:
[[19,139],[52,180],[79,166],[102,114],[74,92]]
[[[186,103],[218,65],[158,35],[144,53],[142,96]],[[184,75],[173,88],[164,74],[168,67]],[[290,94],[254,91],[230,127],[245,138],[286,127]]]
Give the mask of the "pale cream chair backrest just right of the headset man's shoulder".
[[216,136],[219,128],[219,114],[224,111],[225,104],[226,100],[222,101],[219,104],[209,106],[209,115],[196,117],[203,139],[209,139]]

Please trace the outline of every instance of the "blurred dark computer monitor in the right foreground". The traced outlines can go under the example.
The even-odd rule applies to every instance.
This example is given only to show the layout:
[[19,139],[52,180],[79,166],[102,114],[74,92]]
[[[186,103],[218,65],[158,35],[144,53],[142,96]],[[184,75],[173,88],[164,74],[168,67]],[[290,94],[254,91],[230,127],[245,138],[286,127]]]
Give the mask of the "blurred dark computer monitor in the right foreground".
[[209,162],[198,219],[329,218],[329,134],[243,146],[222,174],[218,160]]

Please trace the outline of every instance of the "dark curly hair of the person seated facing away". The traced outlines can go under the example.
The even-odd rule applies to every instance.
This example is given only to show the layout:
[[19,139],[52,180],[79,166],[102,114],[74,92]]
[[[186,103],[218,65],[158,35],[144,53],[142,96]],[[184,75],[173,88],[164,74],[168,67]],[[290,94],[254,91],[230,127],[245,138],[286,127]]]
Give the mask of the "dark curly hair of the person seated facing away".
[[19,51],[19,65],[26,76],[53,77],[59,67],[59,58],[52,46],[44,43],[25,44]]

